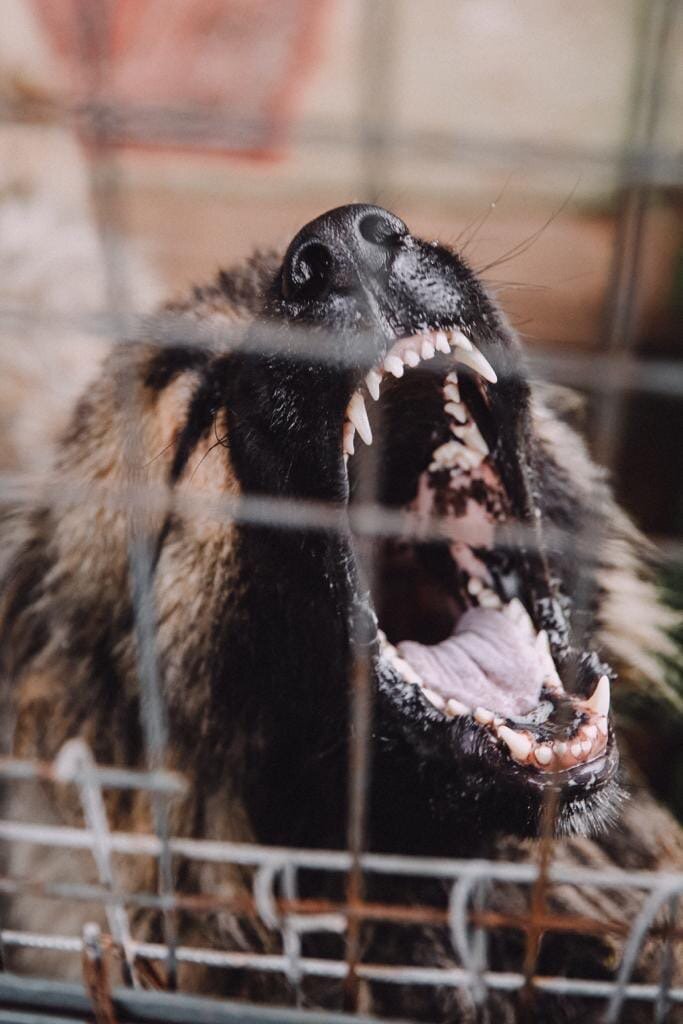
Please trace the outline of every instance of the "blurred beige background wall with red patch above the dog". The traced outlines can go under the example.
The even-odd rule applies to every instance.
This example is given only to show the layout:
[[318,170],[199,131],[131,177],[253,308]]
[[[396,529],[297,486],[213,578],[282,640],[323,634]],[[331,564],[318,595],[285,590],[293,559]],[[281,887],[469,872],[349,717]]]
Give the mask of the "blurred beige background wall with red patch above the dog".
[[[0,187],[35,189],[109,231],[132,304],[285,246],[328,207],[375,200],[462,249],[530,346],[597,355],[615,344],[616,215],[644,140],[653,168],[629,331],[637,349],[674,358],[683,30],[674,11],[656,113],[638,135],[649,7],[3,0]],[[156,289],[137,287],[140,258]],[[617,486],[648,531],[675,534],[681,402],[627,404]],[[589,428],[594,414],[589,400]]]

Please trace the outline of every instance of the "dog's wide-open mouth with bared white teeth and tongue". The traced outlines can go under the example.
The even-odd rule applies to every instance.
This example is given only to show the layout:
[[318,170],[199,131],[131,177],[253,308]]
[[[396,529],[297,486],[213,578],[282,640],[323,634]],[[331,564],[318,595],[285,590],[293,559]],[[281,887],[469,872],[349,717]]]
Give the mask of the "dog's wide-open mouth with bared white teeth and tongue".
[[585,793],[616,766],[608,670],[569,653],[567,604],[547,563],[506,540],[520,513],[498,464],[496,387],[462,330],[429,329],[396,341],[348,404],[351,484],[369,457],[357,438],[370,445],[375,434],[378,497],[405,511],[412,538],[427,521],[441,535],[375,552],[380,671],[525,784]]

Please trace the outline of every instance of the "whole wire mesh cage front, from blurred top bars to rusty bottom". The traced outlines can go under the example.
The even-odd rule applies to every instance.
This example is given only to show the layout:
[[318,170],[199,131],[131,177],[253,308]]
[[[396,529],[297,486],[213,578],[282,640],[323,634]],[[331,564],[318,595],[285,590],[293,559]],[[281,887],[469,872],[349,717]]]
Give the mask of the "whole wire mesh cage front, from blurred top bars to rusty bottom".
[[[5,122],[40,124],[46,117],[74,128],[89,152],[91,189],[100,224],[108,272],[108,308],[81,317],[63,316],[65,329],[84,329],[91,335],[116,343],[134,338],[141,331],[150,336],[154,324],[155,340],[173,343],[177,325],[166,314],[152,321],[139,321],[129,310],[121,269],[122,256],[117,232],[120,204],[125,180],[119,174],[117,153],[123,144],[150,144],[162,141],[202,153],[242,148],[257,152],[270,141],[270,121],[258,116],[238,117],[236,109],[207,108],[183,103],[140,103],[112,100],[108,93],[106,4],[77,4],[82,73],[89,95],[83,101],[54,105],[41,97],[25,95],[20,101],[3,103]],[[334,145],[353,151],[359,158],[365,197],[381,195],[383,168],[401,151],[420,147],[423,154],[468,165],[505,163],[518,156],[520,146],[509,141],[486,138],[456,138],[447,135],[403,132],[387,116],[391,59],[388,47],[392,39],[394,5],[369,4],[362,16],[360,46],[369,55],[364,61],[364,81],[359,83],[362,116],[347,137],[319,123],[304,123],[296,131],[305,147]],[[537,150],[533,159],[542,168],[555,165],[583,166],[586,163],[608,168],[616,177],[614,244],[608,288],[605,295],[605,326],[597,352],[586,354],[537,349],[529,362],[533,373],[562,384],[579,386],[592,393],[595,415],[593,444],[598,460],[614,466],[616,438],[625,415],[625,395],[639,390],[653,396],[680,397],[683,394],[683,370],[680,364],[666,358],[643,360],[635,351],[634,304],[643,272],[643,232],[648,211],[660,190],[680,188],[683,165],[679,156],[656,142],[655,127],[666,96],[672,60],[672,39],[680,17],[676,0],[652,0],[643,16],[633,63],[635,87],[630,99],[629,133],[624,145],[614,151],[590,147],[577,140],[571,150],[549,144]],[[373,58],[370,59],[370,55]],[[49,108],[49,110],[48,110]],[[264,139],[266,141],[264,141]],[[521,145],[521,144],[520,144]],[[51,329],[54,316],[47,321],[26,305],[0,308],[4,333],[16,336],[28,326],[32,330]],[[12,334],[13,332],[13,334]],[[187,341],[187,326],[182,325],[182,339]],[[201,326],[197,341],[206,340]],[[263,332],[264,347],[275,346],[278,339]],[[222,337],[230,344],[229,332]],[[237,343],[237,342],[236,342]],[[301,339],[305,350],[306,339]],[[134,412],[134,411],[131,411]],[[7,472],[0,480],[3,505],[22,502],[32,494],[32,481],[18,473]],[[58,503],[59,489],[48,493],[48,500]],[[84,494],[83,500],[87,500]],[[145,498],[148,499],[148,495]],[[153,496],[154,497],[154,496]],[[131,486],[120,500],[135,508],[136,495]],[[163,500],[163,498],[160,498]],[[191,499],[185,513],[199,511]],[[132,513],[134,516],[134,512]],[[222,519],[282,523],[298,527],[347,528],[337,510],[301,502],[269,499],[212,500],[207,513]],[[372,502],[353,512],[354,528],[373,538],[394,530],[400,535],[403,524],[395,522],[385,510]],[[586,551],[594,549],[599,539],[586,537]],[[681,546],[675,538],[661,539],[661,550],[672,562],[681,559]],[[94,921],[82,934],[34,934],[0,928],[0,1021],[39,1022],[80,1021],[360,1021],[364,1017],[359,996],[366,981],[384,982],[400,987],[446,986],[470,991],[477,1005],[485,1005],[490,992],[523,992],[529,1000],[532,1017],[535,993],[583,997],[587,1004],[604,1007],[605,1022],[622,1019],[625,1008],[639,1004],[648,1008],[653,1021],[679,1019],[683,1013],[683,987],[674,978],[674,948],[683,939],[681,895],[683,869],[649,872],[615,868],[568,867],[554,862],[554,841],[544,836],[533,858],[513,860],[452,860],[368,853],[365,843],[366,772],[368,771],[369,726],[366,715],[368,681],[360,670],[354,673],[352,709],[351,769],[349,786],[349,845],[345,850],[324,851],[270,848],[258,845],[178,838],[171,834],[169,807],[184,792],[188,782],[167,771],[167,726],[162,688],[155,662],[155,618],[152,603],[152,552],[143,536],[132,534],[129,552],[132,593],[135,600],[135,630],[139,647],[139,686],[142,731],[146,752],[146,770],[98,765],[87,744],[70,740],[54,762],[39,764],[5,757],[0,760],[0,779],[5,788],[32,782],[59,782],[78,795],[83,813],[82,827],[67,827],[28,820],[0,820],[0,844],[30,851],[51,848],[69,851],[74,856],[85,853],[94,863],[97,882],[49,883],[35,877],[4,873],[0,894],[24,894],[40,900],[87,903],[103,908],[104,930]],[[155,831],[148,835],[124,834],[113,829],[106,794],[110,791],[139,791],[148,794]],[[27,853],[27,856],[29,854]],[[126,858],[144,856],[158,864],[159,888],[155,892],[128,892],[122,888],[119,866]],[[206,913],[230,909],[224,897],[188,896],[175,889],[174,867],[178,858],[199,863],[238,865],[249,871],[251,897],[238,909],[259,923],[276,939],[275,953],[233,951],[230,949],[185,946],[178,941],[177,914]],[[29,862],[29,861],[27,861]],[[302,872],[316,871],[347,879],[346,899],[340,902],[313,900],[300,895]],[[439,880],[446,894],[443,905],[404,905],[400,901],[378,903],[365,898],[365,880],[386,877],[397,884],[411,879]],[[524,913],[507,920],[487,905],[493,886],[518,887],[524,894]],[[578,920],[555,912],[549,894],[557,886],[586,887],[593,890],[629,890],[640,909],[630,921],[606,922],[586,915]],[[162,922],[161,940],[138,941],[131,927],[136,908],[156,909]],[[432,926],[447,930],[453,963],[451,967],[425,967],[418,964],[367,963],[360,943],[360,925],[366,921],[383,922],[400,928]],[[1,923],[0,923],[1,925]],[[525,948],[523,970],[503,973],[492,969],[487,959],[487,937],[496,930],[516,931]],[[624,940],[623,955],[614,980],[599,981],[581,976],[550,977],[537,972],[539,937],[545,932],[581,932],[604,935],[615,932]],[[329,957],[312,957],[306,950],[311,934],[331,938]],[[657,981],[633,980],[634,968],[644,943],[656,940]],[[69,954],[82,965],[82,982],[48,981],[38,976],[20,977],[3,972],[5,956],[14,948],[41,952],[46,962],[52,954]],[[109,963],[115,957],[122,966],[125,984],[113,987],[109,981]],[[165,980],[166,991],[146,990],[142,964],[153,964]],[[294,993],[292,1005],[285,1009],[218,1001],[174,991],[173,979],[178,965],[198,964],[217,970],[255,971],[286,978]],[[344,1007],[339,1013],[306,1009],[300,996],[307,978],[333,979],[343,983]],[[4,1008],[4,1009],[3,1009]]]

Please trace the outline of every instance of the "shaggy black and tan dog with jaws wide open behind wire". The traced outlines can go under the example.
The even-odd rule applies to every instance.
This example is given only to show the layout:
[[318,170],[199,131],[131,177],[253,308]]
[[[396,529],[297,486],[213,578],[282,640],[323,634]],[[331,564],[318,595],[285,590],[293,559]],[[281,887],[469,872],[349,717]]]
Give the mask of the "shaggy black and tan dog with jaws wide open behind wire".
[[[190,780],[176,834],[343,846],[358,672],[370,848],[494,855],[501,837],[538,835],[549,803],[558,836],[616,821],[610,683],[656,647],[655,594],[603,474],[553,392],[529,384],[518,339],[466,263],[379,207],[346,206],[302,228],[284,258],[257,255],[167,315],[171,342],[155,341],[151,322],[150,339],[117,345],[77,404],[55,456],[58,500],[8,526],[13,752],[48,761],[81,735],[99,762],[144,762],[129,573],[131,551],[144,551],[169,766]],[[599,543],[582,548],[586,538]],[[42,799],[36,815],[78,819],[62,794]],[[151,827],[143,797],[109,806],[117,827]],[[651,843],[634,856],[656,866],[655,837],[679,837],[646,813]],[[573,842],[590,861],[616,841]],[[29,863],[50,872],[46,855]],[[154,887],[147,863],[127,871],[129,886]],[[245,883],[185,864],[177,884]],[[40,930],[32,904],[10,912]],[[154,936],[159,923],[136,927]],[[217,943],[267,948],[234,914],[183,934],[206,945],[212,929]],[[376,959],[381,936],[368,938]],[[404,941],[404,962],[449,961],[436,931]],[[554,942],[548,969],[573,963],[578,944]],[[606,941],[591,955],[608,972]],[[185,983],[251,991],[218,974]],[[373,998],[377,1012],[469,1019],[458,993]],[[504,1011],[515,1019],[511,1000]]]

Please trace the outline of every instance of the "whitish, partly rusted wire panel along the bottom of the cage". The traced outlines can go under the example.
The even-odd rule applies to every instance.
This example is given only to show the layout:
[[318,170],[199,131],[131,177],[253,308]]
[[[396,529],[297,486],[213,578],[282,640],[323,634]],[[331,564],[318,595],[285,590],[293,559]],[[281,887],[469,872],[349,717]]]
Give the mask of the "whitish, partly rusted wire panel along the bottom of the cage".
[[[36,934],[4,929],[0,932],[2,947],[40,949],[46,954],[70,953],[80,956],[84,964],[84,975],[88,980],[89,971],[101,965],[104,976],[105,951],[114,953],[127,968],[127,976],[133,988],[139,984],[138,964],[141,962],[168,964],[169,945],[141,942],[131,935],[129,912],[135,907],[153,907],[162,912],[191,907],[198,910],[198,901],[183,897],[181,893],[125,892],[117,882],[114,867],[115,856],[153,856],[160,864],[165,858],[184,858],[214,864],[241,865],[253,871],[252,900],[250,905],[239,909],[257,918],[267,929],[280,937],[281,952],[262,953],[229,951],[216,948],[176,946],[173,949],[175,963],[205,965],[229,970],[253,970],[276,973],[285,976],[296,988],[305,978],[329,978],[343,980],[348,976],[346,959],[310,957],[302,952],[302,938],[310,933],[318,935],[344,936],[347,930],[350,907],[348,904],[324,905],[321,900],[297,898],[297,876],[301,871],[315,870],[335,876],[348,872],[352,867],[353,854],[349,851],[319,851],[289,848],[264,847],[248,844],[221,843],[207,840],[165,838],[154,834],[126,834],[110,830],[103,790],[105,787],[134,787],[157,794],[168,800],[184,792],[183,780],[168,772],[134,772],[116,768],[97,767],[86,743],[80,739],[70,740],[51,765],[36,765],[32,762],[5,759],[0,763],[0,777],[3,779],[41,779],[71,782],[80,794],[84,827],[41,825],[35,822],[0,821],[0,840],[22,842],[31,845],[61,848],[71,851],[87,850],[92,854],[97,868],[97,885],[78,883],[41,884],[39,880],[0,879],[0,892],[17,895],[22,892],[44,899],[100,902],[108,922],[109,933],[100,935],[95,924],[86,925],[81,936],[61,934]],[[361,854],[360,868],[364,876],[382,876],[400,880],[401,878],[438,880],[447,892],[442,910],[434,906],[400,906],[395,903],[361,905],[357,914],[373,921],[396,924],[439,924],[447,928],[451,935],[454,963],[458,967],[424,967],[418,965],[388,965],[357,963],[354,970],[365,981],[385,982],[396,985],[438,985],[468,988],[476,1001],[483,1001],[487,991],[514,992],[522,989],[527,979],[522,973],[492,970],[486,964],[486,930],[492,927],[526,929],[529,919],[510,915],[501,921],[500,914],[486,912],[485,896],[482,894],[496,883],[514,884],[530,890],[538,884],[541,865],[529,862],[505,862],[490,860],[451,860],[429,857],[407,857],[381,854]],[[549,886],[570,885],[594,889],[630,888],[642,893],[642,905],[638,915],[631,923],[626,939],[624,954],[614,981],[582,980],[580,978],[543,977],[533,978],[533,986],[542,992],[556,995],[583,996],[606,999],[605,1021],[616,1021],[626,999],[637,999],[658,1005],[683,1005],[683,987],[668,984],[666,965],[671,955],[672,944],[681,938],[680,928],[675,928],[675,905],[683,894],[683,871],[647,872],[623,871],[617,869],[598,870],[595,868],[563,867],[551,865],[547,868],[546,882]],[[206,897],[201,906],[203,912],[225,908],[225,901],[216,897]],[[658,984],[643,984],[631,980],[646,938],[663,932],[655,923],[660,921],[663,910],[672,910],[671,921],[664,933],[661,944],[661,980]],[[546,912],[543,927],[546,930],[563,929],[567,925],[561,914]],[[575,923],[572,923],[575,927]],[[582,930],[590,934],[604,932],[604,922],[586,919]],[[92,968],[92,965],[95,968]],[[91,997],[104,998],[102,989],[96,983],[89,985]],[[58,998],[58,987],[55,999]],[[0,975],[0,997],[3,981]],[[191,1013],[191,998],[178,995],[178,1009]],[[162,1004],[162,1009],[163,1009]],[[216,1005],[219,1020],[220,1005]],[[301,1013],[305,1020],[307,1014]],[[189,1017],[187,1019],[190,1019]],[[656,1019],[656,1018],[655,1018]],[[664,1018],[663,1018],[664,1019]]]

